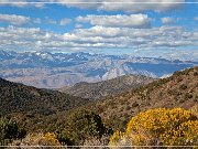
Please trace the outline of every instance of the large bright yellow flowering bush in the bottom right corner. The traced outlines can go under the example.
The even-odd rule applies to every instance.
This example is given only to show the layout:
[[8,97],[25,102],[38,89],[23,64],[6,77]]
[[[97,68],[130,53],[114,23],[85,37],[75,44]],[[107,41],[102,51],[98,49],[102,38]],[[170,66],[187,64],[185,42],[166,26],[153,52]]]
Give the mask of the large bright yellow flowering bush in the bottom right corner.
[[150,109],[131,118],[125,132],[114,132],[110,145],[123,140],[130,146],[197,146],[198,118],[182,108]]

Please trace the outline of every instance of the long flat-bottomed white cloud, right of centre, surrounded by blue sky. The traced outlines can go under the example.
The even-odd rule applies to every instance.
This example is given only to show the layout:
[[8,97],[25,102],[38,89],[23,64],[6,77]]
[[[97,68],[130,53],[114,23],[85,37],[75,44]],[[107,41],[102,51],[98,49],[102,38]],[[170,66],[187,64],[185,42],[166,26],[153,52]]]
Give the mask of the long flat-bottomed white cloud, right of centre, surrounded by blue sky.
[[89,22],[92,25],[120,26],[120,28],[150,28],[151,19],[147,14],[131,15],[87,15],[78,17],[77,22]]

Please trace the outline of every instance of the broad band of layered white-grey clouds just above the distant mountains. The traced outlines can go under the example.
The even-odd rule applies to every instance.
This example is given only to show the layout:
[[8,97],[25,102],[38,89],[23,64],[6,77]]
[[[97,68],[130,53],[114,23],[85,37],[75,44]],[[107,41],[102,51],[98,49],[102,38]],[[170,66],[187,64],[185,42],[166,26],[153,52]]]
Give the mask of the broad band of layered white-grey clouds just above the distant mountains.
[[198,32],[179,26],[152,29],[105,28],[75,29],[68,33],[42,31],[38,28],[0,28],[0,45],[4,50],[94,50],[131,49],[170,50],[198,46]]

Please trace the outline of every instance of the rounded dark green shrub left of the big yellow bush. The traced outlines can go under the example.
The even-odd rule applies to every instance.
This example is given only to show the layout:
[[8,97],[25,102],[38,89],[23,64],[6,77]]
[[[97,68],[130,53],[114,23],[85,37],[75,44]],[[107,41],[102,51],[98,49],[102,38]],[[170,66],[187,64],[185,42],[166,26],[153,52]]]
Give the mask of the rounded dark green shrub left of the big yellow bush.
[[62,131],[73,145],[82,145],[87,138],[100,138],[106,132],[106,127],[99,115],[88,109],[77,109],[72,113]]

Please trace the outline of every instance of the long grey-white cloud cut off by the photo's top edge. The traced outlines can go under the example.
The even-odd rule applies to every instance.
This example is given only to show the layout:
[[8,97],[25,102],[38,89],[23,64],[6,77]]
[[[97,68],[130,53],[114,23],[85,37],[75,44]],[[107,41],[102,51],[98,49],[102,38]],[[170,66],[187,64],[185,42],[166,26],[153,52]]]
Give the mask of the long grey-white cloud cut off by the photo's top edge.
[[[52,0],[63,2],[62,4],[67,7],[75,7],[80,9],[97,9],[105,11],[125,11],[125,12],[142,12],[142,11],[168,11],[175,10],[183,6],[185,0]],[[89,3],[85,3],[89,2]]]

